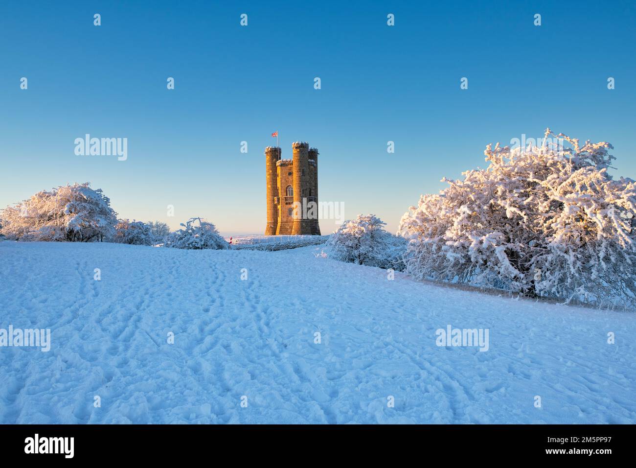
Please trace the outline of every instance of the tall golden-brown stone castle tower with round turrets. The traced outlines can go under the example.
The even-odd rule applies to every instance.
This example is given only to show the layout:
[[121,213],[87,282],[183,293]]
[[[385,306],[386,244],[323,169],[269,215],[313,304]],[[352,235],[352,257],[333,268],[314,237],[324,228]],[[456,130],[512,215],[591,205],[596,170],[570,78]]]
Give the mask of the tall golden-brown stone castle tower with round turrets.
[[[267,224],[265,234],[320,235],[318,224],[318,150],[307,142],[291,145],[293,159],[280,159],[280,148],[265,148]],[[312,208],[312,202],[315,209]]]

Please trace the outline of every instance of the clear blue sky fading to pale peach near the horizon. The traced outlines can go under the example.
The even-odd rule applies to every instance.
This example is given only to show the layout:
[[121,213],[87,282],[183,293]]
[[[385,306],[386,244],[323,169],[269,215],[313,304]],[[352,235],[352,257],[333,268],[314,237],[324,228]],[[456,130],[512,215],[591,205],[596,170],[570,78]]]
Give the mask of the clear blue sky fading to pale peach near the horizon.
[[[633,1],[4,1],[0,207],[90,181],[120,217],[261,233],[276,130],[284,158],[319,148],[321,201],[391,231],[487,143],[546,126],[610,141],[636,178],[635,25]],[[128,138],[128,159],[76,156],[86,133]]]

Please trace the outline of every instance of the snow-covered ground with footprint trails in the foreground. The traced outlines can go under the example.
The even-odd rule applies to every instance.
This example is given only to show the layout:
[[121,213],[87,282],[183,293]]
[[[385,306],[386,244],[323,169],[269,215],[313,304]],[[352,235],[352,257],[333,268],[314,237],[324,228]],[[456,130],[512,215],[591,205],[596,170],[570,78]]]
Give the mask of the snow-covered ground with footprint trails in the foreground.
[[[52,331],[48,352],[0,348],[0,422],[636,422],[635,314],[319,252],[0,242],[0,329]],[[448,325],[488,351],[437,346]]]

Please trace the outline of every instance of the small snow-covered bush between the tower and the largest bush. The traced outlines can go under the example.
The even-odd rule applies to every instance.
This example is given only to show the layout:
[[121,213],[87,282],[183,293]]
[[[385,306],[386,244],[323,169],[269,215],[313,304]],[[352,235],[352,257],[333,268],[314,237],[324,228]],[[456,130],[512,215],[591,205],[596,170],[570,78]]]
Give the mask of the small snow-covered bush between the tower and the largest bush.
[[375,215],[358,215],[345,221],[329,236],[330,257],[359,265],[404,269],[402,256],[406,240],[383,229],[385,222]]

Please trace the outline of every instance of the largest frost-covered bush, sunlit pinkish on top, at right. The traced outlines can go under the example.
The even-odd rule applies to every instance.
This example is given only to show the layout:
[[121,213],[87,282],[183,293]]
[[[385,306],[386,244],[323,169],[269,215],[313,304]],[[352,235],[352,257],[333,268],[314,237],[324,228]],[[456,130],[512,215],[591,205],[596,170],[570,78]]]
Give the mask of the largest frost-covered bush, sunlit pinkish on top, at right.
[[[555,136],[550,129],[548,136]],[[636,184],[607,173],[609,143],[485,150],[400,222],[406,271],[598,306],[636,306]]]

